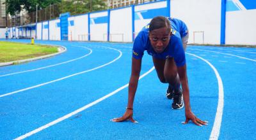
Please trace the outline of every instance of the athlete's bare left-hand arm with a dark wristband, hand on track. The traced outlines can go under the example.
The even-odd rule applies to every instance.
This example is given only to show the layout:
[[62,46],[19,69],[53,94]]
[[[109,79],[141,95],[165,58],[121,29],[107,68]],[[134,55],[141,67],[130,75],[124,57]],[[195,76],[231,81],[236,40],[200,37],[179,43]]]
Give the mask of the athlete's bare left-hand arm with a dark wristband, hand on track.
[[113,122],[123,122],[124,120],[131,120],[131,122],[136,123],[136,121],[132,118],[133,115],[133,101],[135,97],[135,93],[138,87],[138,81],[140,78],[141,71],[141,59],[134,59],[132,57],[132,73],[129,81],[129,91],[128,91],[128,104],[127,109],[124,115],[120,118],[114,118]]

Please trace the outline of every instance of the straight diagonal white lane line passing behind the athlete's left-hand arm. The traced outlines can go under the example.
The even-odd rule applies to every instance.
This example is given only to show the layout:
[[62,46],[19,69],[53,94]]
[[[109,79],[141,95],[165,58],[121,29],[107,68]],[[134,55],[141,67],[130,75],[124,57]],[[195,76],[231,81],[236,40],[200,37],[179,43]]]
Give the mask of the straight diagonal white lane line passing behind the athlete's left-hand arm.
[[[140,80],[141,78],[143,78],[144,76],[146,76],[148,73],[152,72],[153,70],[154,70],[154,67],[152,67],[152,68],[151,68],[149,71],[147,71],[146,73],[142,74],[142,75],[140,76],[139,80]],[[129,84],[127,83],[126,85],[124,85],[124,86],[122,86],[122,87],[120,87],[120,88],[117,88],[115,91],[109,93],[108,95],[105,95],[104,97],[101,97],[100,99],[97,99],[96,101],[93,101],[93,102],[91,102],[90,104],[86,104],[86,105],[83,106],[82,108],[79,108],[79,109],[77,109],[76,111],[73,111],[72,113],[68,113],[68,114],[65,115],[65,116],[62,116],[62,117],[60,117],[60,118],[58,118],[58,119],[56,119],[56,120],[54,120],[54,121],[52,121],[52,122],[50,122],[50,123],[47,123],[46,125],[43,125],[42,127],[39,127],[38,129],[32,130],[31,132],[28,132],[28,133],[26,133],[26,134],[24,134],[24,135],[22,135],[22,136],[20,136],[20,137],[17,137],[17,138],[15,138],[15,139],[25,139],[26,137],[29,137],[29,136],[31,136],[31,135],[33,135],[33,134],[36,134],[37,132],[40,132],[40,131],[42,131],[42,130],[44,130],[44,129],[47,129],[48,127],[51,127],[52,125],[55,125],[56,123],[59,123],[59,122],[65,120],[65,119],[67,119],[67,118],[70,118],[70,116],[76,115],[77,113],[79,113],[79,112],[81,112],[81,111],[84,111],[85,109],[90,108],[91,106],[94,106],[95,104],[97,104],[97,103],[103,101],[104,99],[107,99],[108,97],[111,97],[112,95],[115,95],[115,94],[116,94],[117,92],[119,92],[120,90],[123,90],[124,88],[128,87],[128,85],[129,85]]]

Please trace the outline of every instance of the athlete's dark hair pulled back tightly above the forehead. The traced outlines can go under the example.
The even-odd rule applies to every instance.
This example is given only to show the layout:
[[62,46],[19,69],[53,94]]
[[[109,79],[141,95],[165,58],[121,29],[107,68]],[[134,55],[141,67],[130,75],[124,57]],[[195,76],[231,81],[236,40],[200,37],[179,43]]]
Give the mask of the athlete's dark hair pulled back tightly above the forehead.
[[168,31],[171,31],[171,24],[168,18],[163,16],[154,17],[149,24],[149,32],[153,31],[154,29],[159,29],[166,27]]

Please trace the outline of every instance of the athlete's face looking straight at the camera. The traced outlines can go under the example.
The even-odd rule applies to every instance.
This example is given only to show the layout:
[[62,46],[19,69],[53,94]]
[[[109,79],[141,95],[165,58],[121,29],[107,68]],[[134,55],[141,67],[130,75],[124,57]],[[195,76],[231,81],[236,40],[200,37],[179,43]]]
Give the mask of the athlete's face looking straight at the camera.
[[149,39],[155,52],[161,53],[168,46],[170,41],[170,29],[163,27],[149,32]]

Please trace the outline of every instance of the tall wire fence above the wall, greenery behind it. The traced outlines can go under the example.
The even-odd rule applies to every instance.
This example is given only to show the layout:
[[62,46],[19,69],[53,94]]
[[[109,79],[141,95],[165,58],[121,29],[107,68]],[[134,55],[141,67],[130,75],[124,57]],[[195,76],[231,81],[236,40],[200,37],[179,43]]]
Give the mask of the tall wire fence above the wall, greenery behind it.
[[[8,17],[8,27],[16,27],[36,22],[42,22],[45,20],[52,20],[60,17],[60,14],[65,12],[69,12],[70,15],[79,15],[92,11],[108,10],[112,8],[120,8],[122,6],[130,6],[132,4],[148,3],[150,1],[156,0],[108,0],[102,1],[101,5],[93,5],[93,1],[88,0],[63,1],[58,4],[51,4],[44,9],[38,9],[37,11],[33,11],[31,13],[15,15],[11,18]],[[89,2],[91,2],[92,4]]]

